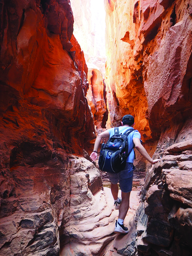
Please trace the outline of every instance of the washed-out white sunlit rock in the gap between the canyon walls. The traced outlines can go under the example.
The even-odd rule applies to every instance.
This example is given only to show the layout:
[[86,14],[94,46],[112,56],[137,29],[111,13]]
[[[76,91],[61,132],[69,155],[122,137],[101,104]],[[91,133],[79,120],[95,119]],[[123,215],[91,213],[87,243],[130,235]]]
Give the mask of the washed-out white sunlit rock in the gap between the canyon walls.
[[74,35],[87,66],[105,74],[105,10],[103,0],[71,0]]

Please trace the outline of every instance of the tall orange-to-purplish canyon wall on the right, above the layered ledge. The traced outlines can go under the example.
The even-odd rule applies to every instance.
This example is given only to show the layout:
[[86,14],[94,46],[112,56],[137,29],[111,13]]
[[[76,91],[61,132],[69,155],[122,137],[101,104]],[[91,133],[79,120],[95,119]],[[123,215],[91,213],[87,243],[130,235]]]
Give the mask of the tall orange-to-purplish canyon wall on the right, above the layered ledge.
[[143,142],[161,136],[162,150],[191,116],[191,2],[105,1],[105,9],[109,122],[134,115]]

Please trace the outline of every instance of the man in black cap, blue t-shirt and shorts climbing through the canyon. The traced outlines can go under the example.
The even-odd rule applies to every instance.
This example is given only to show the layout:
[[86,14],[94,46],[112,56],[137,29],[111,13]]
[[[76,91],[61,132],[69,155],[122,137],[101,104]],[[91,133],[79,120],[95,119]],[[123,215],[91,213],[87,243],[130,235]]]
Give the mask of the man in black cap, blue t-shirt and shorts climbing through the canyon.
[[[125,131],[132,129],[132,127],[134,126],[135,124],[134,117],[131,115],[123,116],[121,124],[122,126],[119,127],[119,133],[123,134]],[[115,128],[116,127],[98,134],[95,140],[94,150],[90,155],[90,158],[92,159],[92,161],[95,161],[97,159],[97,150],[100,145],[101,139],[111,138],[115,133],[114,132]],[[115,223],[115,230],[114,230],[115,233],[129,232],[128,228],[123,225],[123,221],[129,210],[129,197],[132,190],[133,170],[135,169],[133,165],[134,158],[135,158],[134,149],[133,149],[134,145],[135,145],[135,148],[139,151],[139,153],[143,157],[145,157],[145,159],[149,161],[151,164],[155,164],[157,161],[159,161],[159,159],[153,160],[149,156],[145,148],[142,146],[141,144],[142,140],[140,138],[141,138],[141,135],[137,130],[133,130],[128,135],[128,147],[129,147],[128,152],[130,153],[126,160],[125,169],[118,173],[108,172],[109,179],[111,181],[111,193],[114,198],[115,209],[119,209],[118,220],[116,220],[116,223]],[[120,185],[122,198],[118,198],[118,185],[117,185],[118,182]]]

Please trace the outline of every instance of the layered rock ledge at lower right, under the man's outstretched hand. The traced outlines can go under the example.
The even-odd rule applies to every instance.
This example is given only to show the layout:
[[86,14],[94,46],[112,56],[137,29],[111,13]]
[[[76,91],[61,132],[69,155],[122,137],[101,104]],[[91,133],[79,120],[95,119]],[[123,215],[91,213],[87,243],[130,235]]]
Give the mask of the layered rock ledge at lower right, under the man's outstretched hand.
[[146,175],[130,234],[114,240],[117,253],[191,255],[191,180],[192,140],[168,147]]

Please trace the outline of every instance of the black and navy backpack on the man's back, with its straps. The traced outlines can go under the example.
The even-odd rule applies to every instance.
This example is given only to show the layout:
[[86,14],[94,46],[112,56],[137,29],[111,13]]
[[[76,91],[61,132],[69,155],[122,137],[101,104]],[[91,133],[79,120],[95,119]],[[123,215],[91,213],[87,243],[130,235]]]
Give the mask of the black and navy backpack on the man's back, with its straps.
[[[99,168],[102,171],[110,173],[118,173],[125,169],[128,153],[128,139],[127,136],[133,128],[119,134],[119,128],[115,128],[114,136],[109,138],[108,142],[101,145],[99,156]],[[132,150],[132,149],[131,149]],[[134,152],[135,153],[135,152]]]

